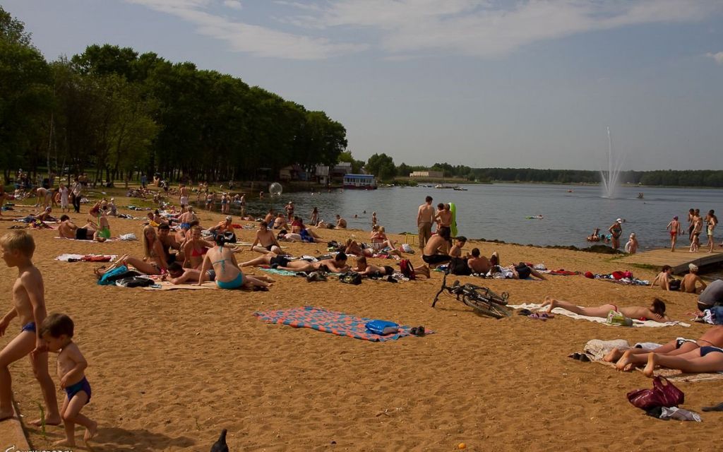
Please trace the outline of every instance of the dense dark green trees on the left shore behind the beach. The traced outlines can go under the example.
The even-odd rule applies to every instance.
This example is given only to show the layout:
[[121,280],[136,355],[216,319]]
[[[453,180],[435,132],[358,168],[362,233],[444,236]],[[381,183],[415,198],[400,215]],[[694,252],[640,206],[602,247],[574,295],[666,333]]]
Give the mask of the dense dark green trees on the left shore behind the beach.
[[189,62],[88,46],[48,62],[0,7],[0,168],[91,179],[275,179],[338,162],[346,129],[323,111]]

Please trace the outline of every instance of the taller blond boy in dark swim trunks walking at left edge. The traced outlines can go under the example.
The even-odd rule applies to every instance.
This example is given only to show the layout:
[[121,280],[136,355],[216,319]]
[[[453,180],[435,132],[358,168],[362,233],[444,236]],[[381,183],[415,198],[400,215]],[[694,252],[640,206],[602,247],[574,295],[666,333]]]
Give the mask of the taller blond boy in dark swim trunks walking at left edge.
[[46,417],[33,422],[40,425],[60,425],[55,386],[48,373],[46,344],[38,334],[39,325],[46,318],[45,286],[40,270],[33,265],[35,242],[25,231],[12,231],[0,237],[2,258],[8,267],[17,267],[17,280],[12,286],[13,307],[0,319],[0,336],[4,336],[12,319],[18,317],[22,328],[5,348],[0,351],[0,420],[13,417],[12,380],[9,365],[22,357],[30,357],[35,378],[40,383],[46,405]]

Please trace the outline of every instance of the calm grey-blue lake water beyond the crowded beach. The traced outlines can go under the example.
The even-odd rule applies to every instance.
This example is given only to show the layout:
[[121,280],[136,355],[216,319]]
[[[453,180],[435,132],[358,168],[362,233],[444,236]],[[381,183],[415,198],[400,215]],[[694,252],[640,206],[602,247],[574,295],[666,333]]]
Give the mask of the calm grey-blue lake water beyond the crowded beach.
[[[346,218],[349,228],[369,230],[372,212],[376,211],[379,223],[388,232],[416,234],[417,208],[424,202],[424,197],[430,195],[434,205],[437,202],[457,205],[459,235],[470,239],[587,247],[590,243],[586,242],[586,237],[594,228],[607,231],[616,218],[624,218],[623,245],[630,232],[635,232],[641,248],[646,249],[669,245],[665,226],[673,216],[677,215],[687,230],[689,208],[699,208],[703,216],[710,209],[723,211],[720,210],[723,209],[723,191],[717,189],[619,187],[617,198],[607,199],[596,186],[492,184],[464,187],[466,192],[390,187],[369,191],[340,189],[315,195],[296,192],[283,194],[277,200],[268,195],[263,200],[247,196],[247,212],[262,216],[269,208],[283,209],[286,202],[293,200],[296,214],[304,221],[309,221],[312,208],[317,206],[320,218],[325,221],[333,221],[339,213]],[[637,199],[638,192],[644,192],[644,199]],[[238,215],[237,205],[232,205],[231,213]],[[544,219],[525,218],[535,215],[542,215]],[[723,227],[716,229],[717,243],[721,241],[721,234]],[[706,237],[701,236],[701,244],[706,243]],[[688,236],[681,236],[679,244],[688,244]]]

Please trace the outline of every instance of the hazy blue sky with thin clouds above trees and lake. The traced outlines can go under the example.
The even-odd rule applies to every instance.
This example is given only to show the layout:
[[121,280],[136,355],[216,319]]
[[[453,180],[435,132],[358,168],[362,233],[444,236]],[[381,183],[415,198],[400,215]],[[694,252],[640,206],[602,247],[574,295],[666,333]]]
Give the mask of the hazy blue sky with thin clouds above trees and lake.
[[3,0],[46,58],[111,43],[240,77],[366,160],[723,169],[719,0]]

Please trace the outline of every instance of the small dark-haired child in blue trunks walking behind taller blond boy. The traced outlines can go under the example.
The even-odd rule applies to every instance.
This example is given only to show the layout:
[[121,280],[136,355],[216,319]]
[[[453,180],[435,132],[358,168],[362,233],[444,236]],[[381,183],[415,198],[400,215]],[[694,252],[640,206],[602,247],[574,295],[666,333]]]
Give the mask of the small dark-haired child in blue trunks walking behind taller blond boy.
[[60,387],[65,390],[65,400],[60,409],[65,425],[65,439],[56,445],[75,445],[75,425],[85,427],[85,443],[95,436],[98,422],[80,414],[80,410],[90,402],[90,383],[85,378],[85,361],[80,349],[73,342],[73,321],[64,314],[51,314],[40,325],[40,337],[48,344],[48,351],[58,354],[58,377]]

